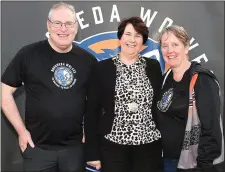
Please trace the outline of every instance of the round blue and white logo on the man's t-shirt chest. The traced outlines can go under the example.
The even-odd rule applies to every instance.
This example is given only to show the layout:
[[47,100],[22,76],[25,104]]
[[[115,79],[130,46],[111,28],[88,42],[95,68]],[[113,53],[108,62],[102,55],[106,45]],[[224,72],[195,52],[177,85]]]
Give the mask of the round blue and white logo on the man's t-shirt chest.
[[69,89],[76,82],[74,78],[76,70],[67,63],[57,63],[52,67],[51,71],[54,72],[53,83],[61,89]]

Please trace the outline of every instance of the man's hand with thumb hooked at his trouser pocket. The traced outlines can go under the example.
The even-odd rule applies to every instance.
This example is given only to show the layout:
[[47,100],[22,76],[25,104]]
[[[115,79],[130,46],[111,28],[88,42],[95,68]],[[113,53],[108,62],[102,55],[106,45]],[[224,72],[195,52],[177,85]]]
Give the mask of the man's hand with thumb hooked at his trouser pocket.
[[32,148],[34,148],[34,143],[31,139],[30,132],[24,130],[23,133],[19,134],[19,146],[22,152],[26,150],[27,144],[29,144]]

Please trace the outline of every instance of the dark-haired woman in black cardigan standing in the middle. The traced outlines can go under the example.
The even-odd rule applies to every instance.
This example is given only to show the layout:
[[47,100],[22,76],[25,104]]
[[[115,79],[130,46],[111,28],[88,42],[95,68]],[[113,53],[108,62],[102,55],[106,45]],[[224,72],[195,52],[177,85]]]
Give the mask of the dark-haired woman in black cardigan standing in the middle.
[[160,64],[139,54],[148,39],[141,18],[124,19],[117,35],[121,52],[92,72],[84,118],[87,164],[103,172],[156,172],[162,155],[154,104]]

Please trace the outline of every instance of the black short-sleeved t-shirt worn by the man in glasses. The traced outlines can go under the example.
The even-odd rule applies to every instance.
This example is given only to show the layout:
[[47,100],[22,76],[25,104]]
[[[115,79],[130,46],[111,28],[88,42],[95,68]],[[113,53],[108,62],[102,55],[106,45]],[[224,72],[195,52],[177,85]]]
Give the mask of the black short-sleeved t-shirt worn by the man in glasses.
[[81,142],[89,75],[96,59],[73,45],[58,53],[48,40],[23,47],[2,82],[26,91],[25,125],[34,144],[60,149]]

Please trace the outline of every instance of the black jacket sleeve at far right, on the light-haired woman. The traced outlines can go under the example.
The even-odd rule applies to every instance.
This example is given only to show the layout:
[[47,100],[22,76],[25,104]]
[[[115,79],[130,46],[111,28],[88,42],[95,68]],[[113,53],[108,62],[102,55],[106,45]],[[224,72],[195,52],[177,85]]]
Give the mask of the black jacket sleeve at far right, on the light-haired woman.
[[197,167],[208,168],[221,154],[219,87],[214,78],[200,73],[196,81],[195,92],[201,122]]

